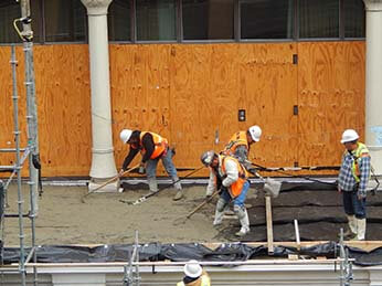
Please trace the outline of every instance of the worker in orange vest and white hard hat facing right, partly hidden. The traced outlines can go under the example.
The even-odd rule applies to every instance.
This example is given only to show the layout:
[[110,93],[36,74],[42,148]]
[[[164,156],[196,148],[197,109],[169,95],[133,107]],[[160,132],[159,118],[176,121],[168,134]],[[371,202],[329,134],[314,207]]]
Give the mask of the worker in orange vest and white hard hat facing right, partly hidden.
[[[251,145],[258,142],[262,136],[262,128],[257,125],[251,126],[246,131],[235,133],[222,151],[223,155],[235,157],[241,163],[248,163]],[[245,166],[246,168],[250,166]]]

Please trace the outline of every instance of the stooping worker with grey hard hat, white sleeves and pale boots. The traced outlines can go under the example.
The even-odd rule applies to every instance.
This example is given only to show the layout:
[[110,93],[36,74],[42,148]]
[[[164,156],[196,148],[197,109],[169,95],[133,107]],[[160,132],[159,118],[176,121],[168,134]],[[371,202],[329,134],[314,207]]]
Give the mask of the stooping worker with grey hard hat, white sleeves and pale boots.
[[204,166],[210,167],[208,195],[211,195],[215,190],[220,191],[213,225],[216,226],[222,223],[225,206],[233,200],[233,211],[242,225],[235,235],[244,236],[250,232],[248,214],[244,205],[250,188],[247,171],[236,158],[217,155],[213,150],[204,152],[201,156],[201,161]]

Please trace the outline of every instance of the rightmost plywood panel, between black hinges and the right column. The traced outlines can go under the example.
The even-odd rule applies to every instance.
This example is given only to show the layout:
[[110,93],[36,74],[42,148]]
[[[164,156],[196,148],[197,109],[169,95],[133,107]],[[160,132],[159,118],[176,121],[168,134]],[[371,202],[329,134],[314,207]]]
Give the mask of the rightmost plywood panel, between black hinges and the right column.
[[340,163],[342,131],[364,134],[364,42],[298,43],[299,163]]

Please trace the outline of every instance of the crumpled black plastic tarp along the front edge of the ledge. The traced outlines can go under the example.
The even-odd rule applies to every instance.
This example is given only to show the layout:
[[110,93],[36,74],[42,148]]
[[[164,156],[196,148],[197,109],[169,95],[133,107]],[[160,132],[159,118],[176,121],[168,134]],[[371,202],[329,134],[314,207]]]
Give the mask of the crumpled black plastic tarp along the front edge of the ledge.
[[[347,246],[346,246],[347,247]],[[134,245],[100,245],[95,247],[44,245],[36,248],[39,263],[94,263],[94,262],[128,262]],[[286,258],[289,254],[304,255],[305,258],[325,256],[335,258],[339,256],[339,244],[328,242],[309,247],[275,246],[272,256],[266,246],[250,246],[245,243],[225,243],[215,250],[210,250],[199,243],[160,244],[149,243],[139,245],[140,262],[172,261],[184,262],[189,259],[208,262],[244,262],[247,259],[261,259],[266,257]],[[382,247],[365,252],[354,247],[348,247],[350,258],[354,258],[357,265],[382,265]],[[19,248],[4,247],[4,264],[17,263],[20,257]],[[25,256],[30,248],[25,250]]]

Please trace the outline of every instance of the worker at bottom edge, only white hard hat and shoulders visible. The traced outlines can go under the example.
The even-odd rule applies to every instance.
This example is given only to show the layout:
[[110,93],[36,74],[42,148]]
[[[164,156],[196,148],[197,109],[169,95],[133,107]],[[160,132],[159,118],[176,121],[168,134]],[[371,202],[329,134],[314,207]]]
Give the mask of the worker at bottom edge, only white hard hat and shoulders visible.
[[179,282],[177,286],[210,286],[211,280],[206,272],[200,266],[197,261],[189,261],[184,265],[183,280]]

